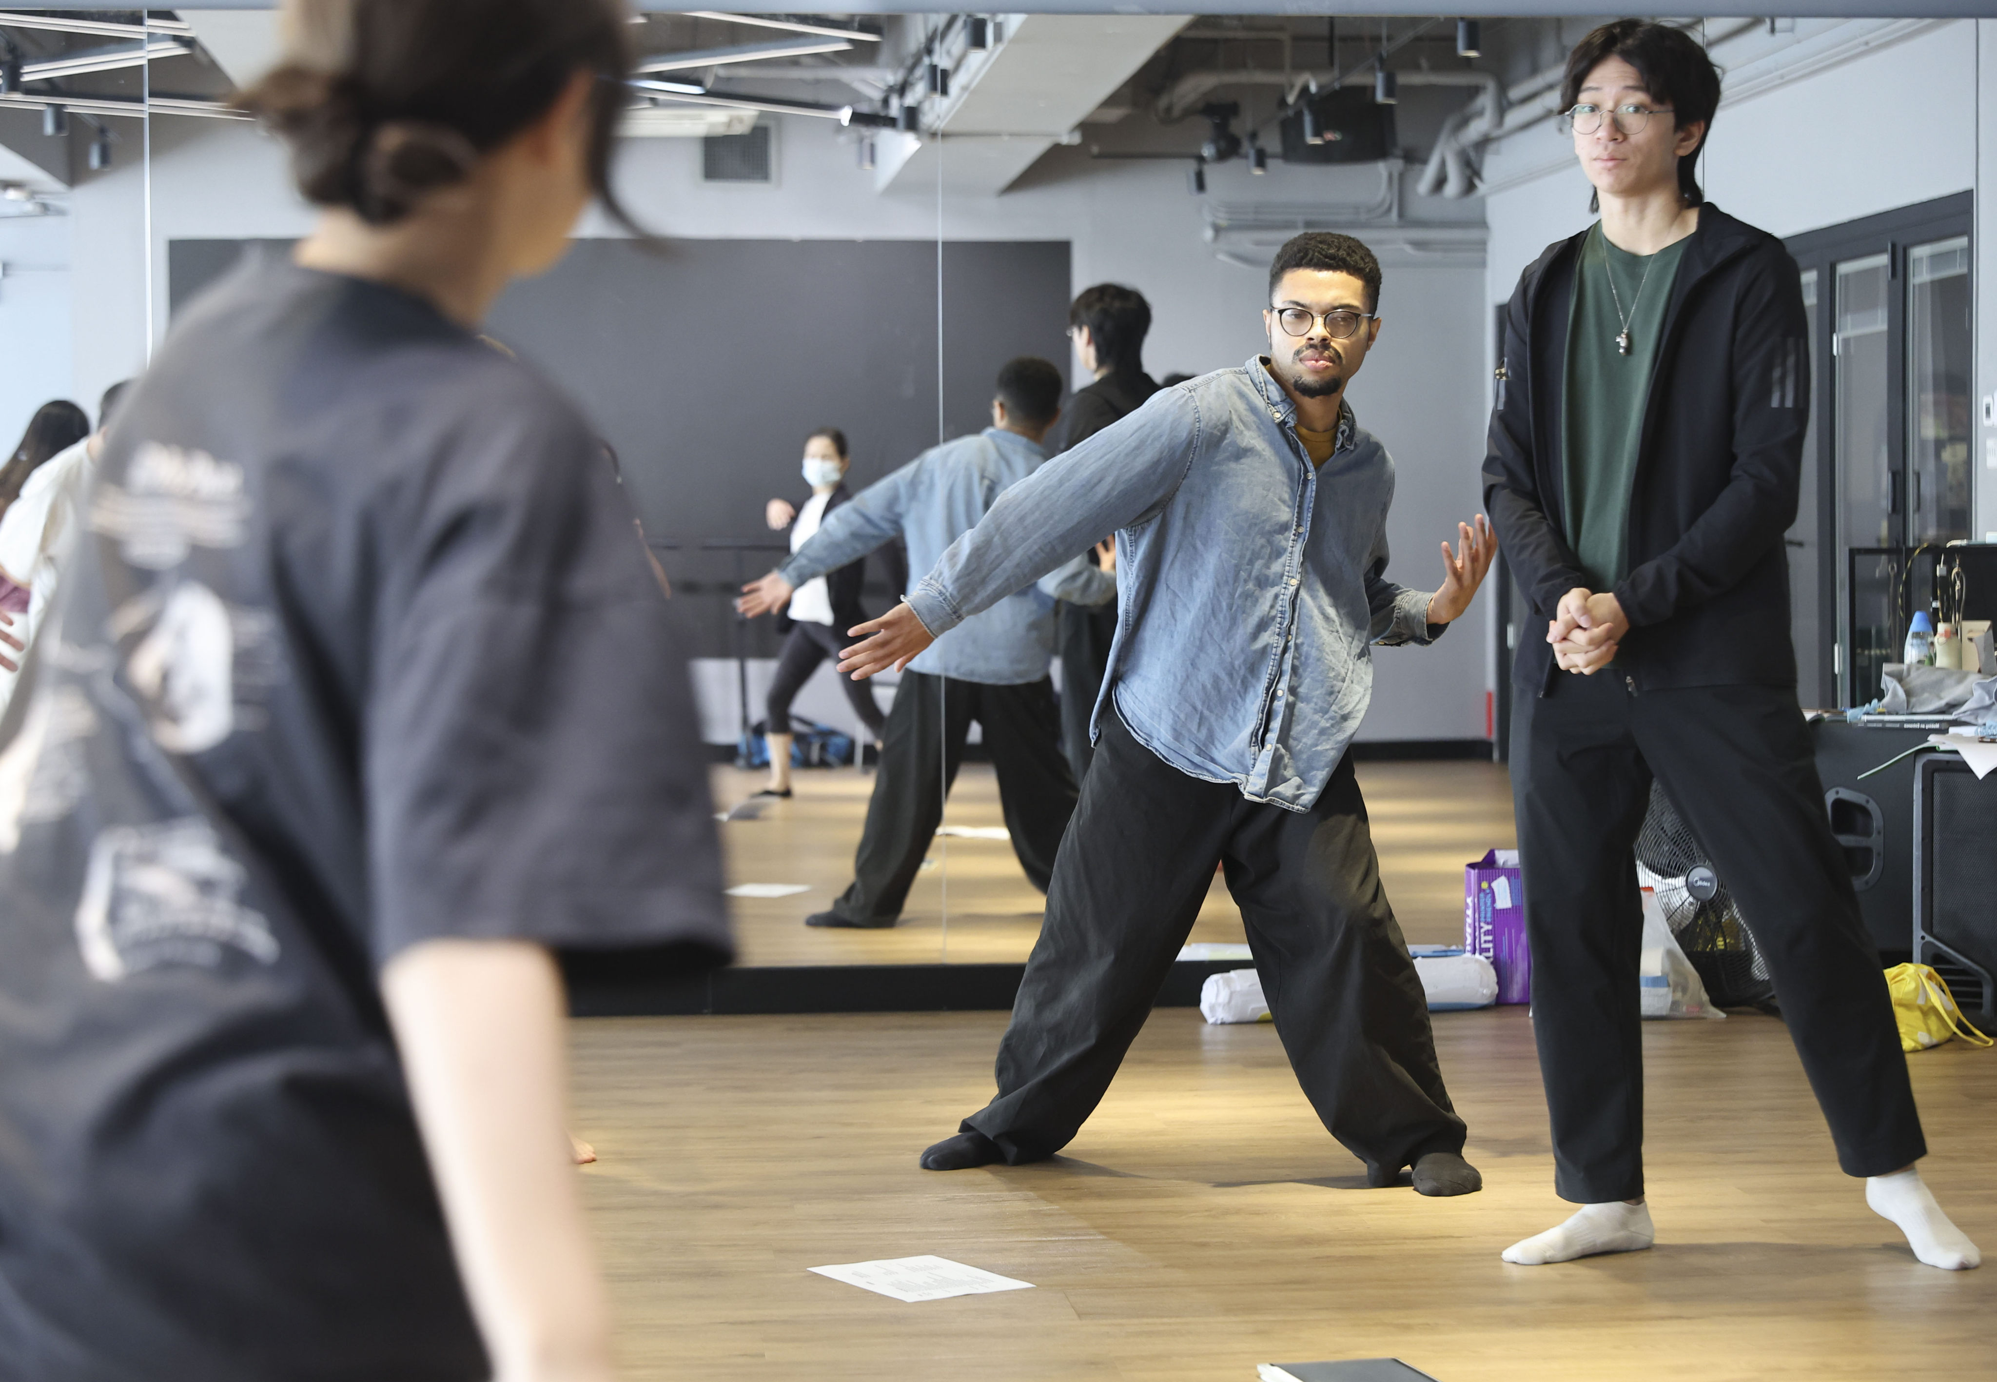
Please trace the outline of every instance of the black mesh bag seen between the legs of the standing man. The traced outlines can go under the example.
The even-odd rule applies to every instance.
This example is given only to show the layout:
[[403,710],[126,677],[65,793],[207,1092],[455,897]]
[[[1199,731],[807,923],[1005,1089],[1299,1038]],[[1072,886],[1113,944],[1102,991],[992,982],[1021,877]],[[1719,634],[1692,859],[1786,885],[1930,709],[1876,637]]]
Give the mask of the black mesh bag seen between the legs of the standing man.
[[1775,1013],[1775,985],[1753,933],[1656,781],[1650,785],[1644,829],[1636,835],[1636,877],[1644,887],[1656,889],[1664,921],[1699,971],[1705,997],[1721,1009]]

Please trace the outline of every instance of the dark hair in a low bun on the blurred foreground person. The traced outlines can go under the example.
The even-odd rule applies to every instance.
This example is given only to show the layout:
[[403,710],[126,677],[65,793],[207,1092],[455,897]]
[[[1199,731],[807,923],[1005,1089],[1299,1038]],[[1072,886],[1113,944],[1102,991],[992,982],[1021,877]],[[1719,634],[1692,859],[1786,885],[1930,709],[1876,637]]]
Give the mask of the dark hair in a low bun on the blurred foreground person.
[[284,62],[236,104],[292,146],[308,202],[401,220],[593,72],[589,182],[631,226],[609,188],[631,72],[619,0],[288,0],[284,20]]

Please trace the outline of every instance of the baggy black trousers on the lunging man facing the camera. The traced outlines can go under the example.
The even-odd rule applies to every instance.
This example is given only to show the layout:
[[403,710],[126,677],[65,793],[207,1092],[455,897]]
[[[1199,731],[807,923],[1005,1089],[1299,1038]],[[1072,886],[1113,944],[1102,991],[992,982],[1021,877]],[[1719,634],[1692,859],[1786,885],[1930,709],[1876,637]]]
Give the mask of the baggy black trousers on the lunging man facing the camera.
[[1262,993],[1324,1126],[1398,1170],[1460,1152],[1428,1001],[1342,761],[1306,813],[1166,765],[1104,713],[1046,921],[998,1044],[998,1098],[963,1122],[1018,1164],[1074,1138],[1136,1038],[1214,879],[1242,909]]

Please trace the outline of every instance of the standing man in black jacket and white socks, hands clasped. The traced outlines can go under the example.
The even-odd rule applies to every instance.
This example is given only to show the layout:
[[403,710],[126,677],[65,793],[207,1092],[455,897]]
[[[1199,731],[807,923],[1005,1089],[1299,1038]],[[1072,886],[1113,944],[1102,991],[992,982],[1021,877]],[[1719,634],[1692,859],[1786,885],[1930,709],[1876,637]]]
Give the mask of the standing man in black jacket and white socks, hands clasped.
[[1809,421],[1795,262],[1701,204],[1719,76],[1685,32],[1598,28],[1562,100],[1602,220],[1512,296],[1484,481],[1548,619],[1516,663],[1512,787],[1554,1188],[1582,1208],[1504,1258],[1654,1240],[1634,847],[1656,775],[1753,927],[1839,1164],[1915,1256],[1975,1266],[1913,1168],[1927,1148],[1907,1060],[1795,705],[1781,545]]

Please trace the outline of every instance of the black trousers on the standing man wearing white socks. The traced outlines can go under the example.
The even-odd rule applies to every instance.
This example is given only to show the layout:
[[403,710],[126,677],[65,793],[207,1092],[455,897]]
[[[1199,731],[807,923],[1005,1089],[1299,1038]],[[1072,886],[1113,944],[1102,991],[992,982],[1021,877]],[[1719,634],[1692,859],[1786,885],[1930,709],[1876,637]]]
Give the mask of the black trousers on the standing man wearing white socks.
[[1809,727],[1785,687],[1638,691],[1616,669],[1522,695],[1512,793],[1532,943],[1532,1027],[1554,1124],[1554,1188],[1644,1194],[1644,907],[1636,837],[1664,783],[1767,957],[1837,1164],[1927,1152],[1879,953],[1831,839]]

